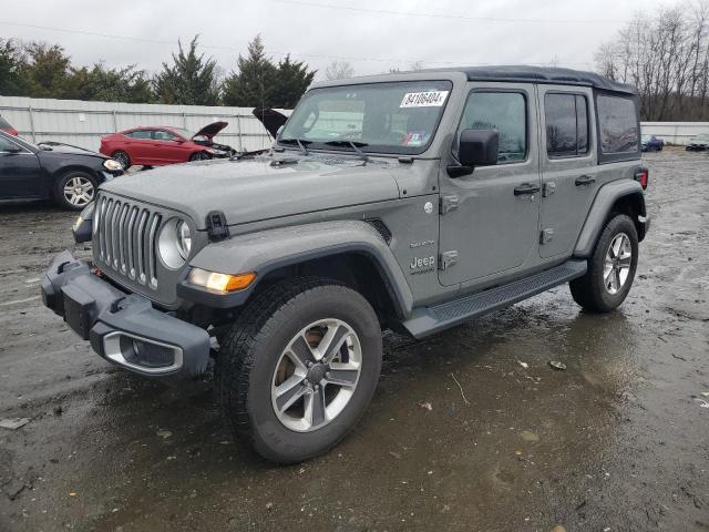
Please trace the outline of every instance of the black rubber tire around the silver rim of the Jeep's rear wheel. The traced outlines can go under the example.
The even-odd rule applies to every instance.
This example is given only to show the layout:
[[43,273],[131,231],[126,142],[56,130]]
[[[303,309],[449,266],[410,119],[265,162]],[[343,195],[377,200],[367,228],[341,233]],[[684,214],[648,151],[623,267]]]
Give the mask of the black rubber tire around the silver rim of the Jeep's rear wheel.
[[[629,239],[631,256],[627,278],[616,294],[606,288],[604,268],[606,254],[616,236],[625,234]],[[569,283],[574,300],[585,310],[593,313],[609,313],[617,308],[630,291],[638,264],[638,233],[633,219],[626,214],[612,216],[604,227],[594,253],[588,259],[588,272],[583,277]]]

